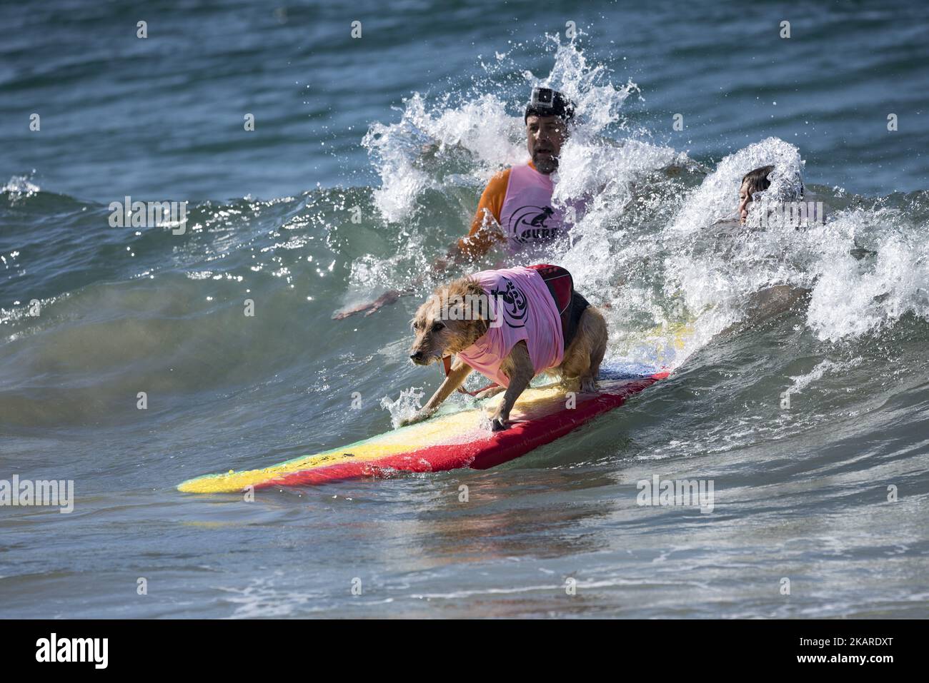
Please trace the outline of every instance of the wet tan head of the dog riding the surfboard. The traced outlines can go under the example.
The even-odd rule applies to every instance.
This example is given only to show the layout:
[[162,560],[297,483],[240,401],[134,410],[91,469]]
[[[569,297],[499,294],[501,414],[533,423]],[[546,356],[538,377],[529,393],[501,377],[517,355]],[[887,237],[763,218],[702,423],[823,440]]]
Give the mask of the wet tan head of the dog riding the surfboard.
[[487,332],[485,299],[480,285],[466,277],[435,290],[412,318],[410,360],[427,366],[477,342]]

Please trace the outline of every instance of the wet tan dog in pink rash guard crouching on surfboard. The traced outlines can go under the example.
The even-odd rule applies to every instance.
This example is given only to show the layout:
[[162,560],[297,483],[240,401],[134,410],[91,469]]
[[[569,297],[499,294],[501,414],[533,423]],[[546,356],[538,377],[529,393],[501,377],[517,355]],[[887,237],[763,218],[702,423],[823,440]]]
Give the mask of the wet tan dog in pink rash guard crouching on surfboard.
[[578,380],[582,392],[595,392],[607,350],[606,320],[556,265],[482,271],[438,287],[416,311],[412,331],[414,364],[456,357],[436,393],[403,424],[430,417],[478,370],[497,384],[478,398],[505,391],[492,429],[507,429],[519,394],[540,373],[560,376],[565,386]]

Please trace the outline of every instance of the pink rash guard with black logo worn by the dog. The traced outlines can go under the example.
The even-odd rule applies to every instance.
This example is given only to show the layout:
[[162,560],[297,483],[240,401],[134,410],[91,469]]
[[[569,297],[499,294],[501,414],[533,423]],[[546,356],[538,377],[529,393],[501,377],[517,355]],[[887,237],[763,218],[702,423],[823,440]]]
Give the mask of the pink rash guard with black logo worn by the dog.
[[458,357],[490,380],[508,387],[500,370],[517,342],[526,342],[536,374],[561,363],[561,316],[542,276],[531,268],[484,270],[471,276],[488,295],[491,320],[501,321]]

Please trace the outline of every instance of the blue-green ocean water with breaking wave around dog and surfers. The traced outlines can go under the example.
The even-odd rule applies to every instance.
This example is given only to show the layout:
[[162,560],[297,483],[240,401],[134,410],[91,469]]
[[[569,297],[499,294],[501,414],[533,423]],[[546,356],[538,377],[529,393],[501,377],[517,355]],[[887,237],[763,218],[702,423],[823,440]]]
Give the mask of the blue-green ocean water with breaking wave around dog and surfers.
[[[0,616],[929,615],[925,6],[2,16],[0,480],[75,500],[0,506]],[[332,315],[464,234],[525,161],[533,84],[580,112],[556,199],[591,198],[548,256],[610,357],[671,377],[492,470],[178,493],[438,386],[406,360],[420,297]],[[765,163],[825,225],[726,223]],[[188,201],[187,229],[111,226],[126,196]],[[713,510],[638,505],[656,475],[712,482]]]

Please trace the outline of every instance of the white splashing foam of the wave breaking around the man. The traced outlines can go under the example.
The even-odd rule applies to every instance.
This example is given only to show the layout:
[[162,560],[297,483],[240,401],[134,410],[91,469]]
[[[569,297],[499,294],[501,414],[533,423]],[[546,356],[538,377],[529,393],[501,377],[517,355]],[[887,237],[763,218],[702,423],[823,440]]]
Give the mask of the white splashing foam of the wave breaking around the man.
[[[425,253],[423,244],[424,236],[435,235],[434,217],[422,226],[412,220],[426,190],[449,195],[466,187],[472,199],[451,202],[466,215],[444,217],[466,226],[473,198],[491,174],[525,161],[519,103],[530,85],[541,84],[565,92],[578,112],[553,200],[561,206],[587,198],[571,244],[548,258],[571,271],[591,303],[606,306],[608,355],[678,367],[714,336],[755,315],[755,295],[775,286],[808,291],[805,323],[823,341],[869,334],[907,314],[929,318],[924,219],[844,192],[817,197],[804,187],[800,149],[777,137],[704,170],[683,152],[655,144],[648,132],[630,129],[623,107],[638,93],[634,83],[613,84],[612,74],[588,63],[576,45],[553,40],[552,48],[552,70],[543,77],[523,72],[516,95],[486,92],[430,103],[416,94],[399,122],[372,126],[365,144],[382,177],[374,202],[405,234],[393,255],[365,255],[352,264],[359,289],[401,286],[411,271],[425,272],[440,255]],[[507,54],[485,65],[490,78],[514,67]],[[455,173],[427,170],[424,149],[438,149]],[[753,202],[748,226],[739,226],[741,177],[765,165],[775,167],[771,187]],[[773,220],[761,228],[772,201],[796,200],[802,191],[804,200],[826,200],[824,225],[796,229]],[[519,257],[510,261],[521,263]]]

